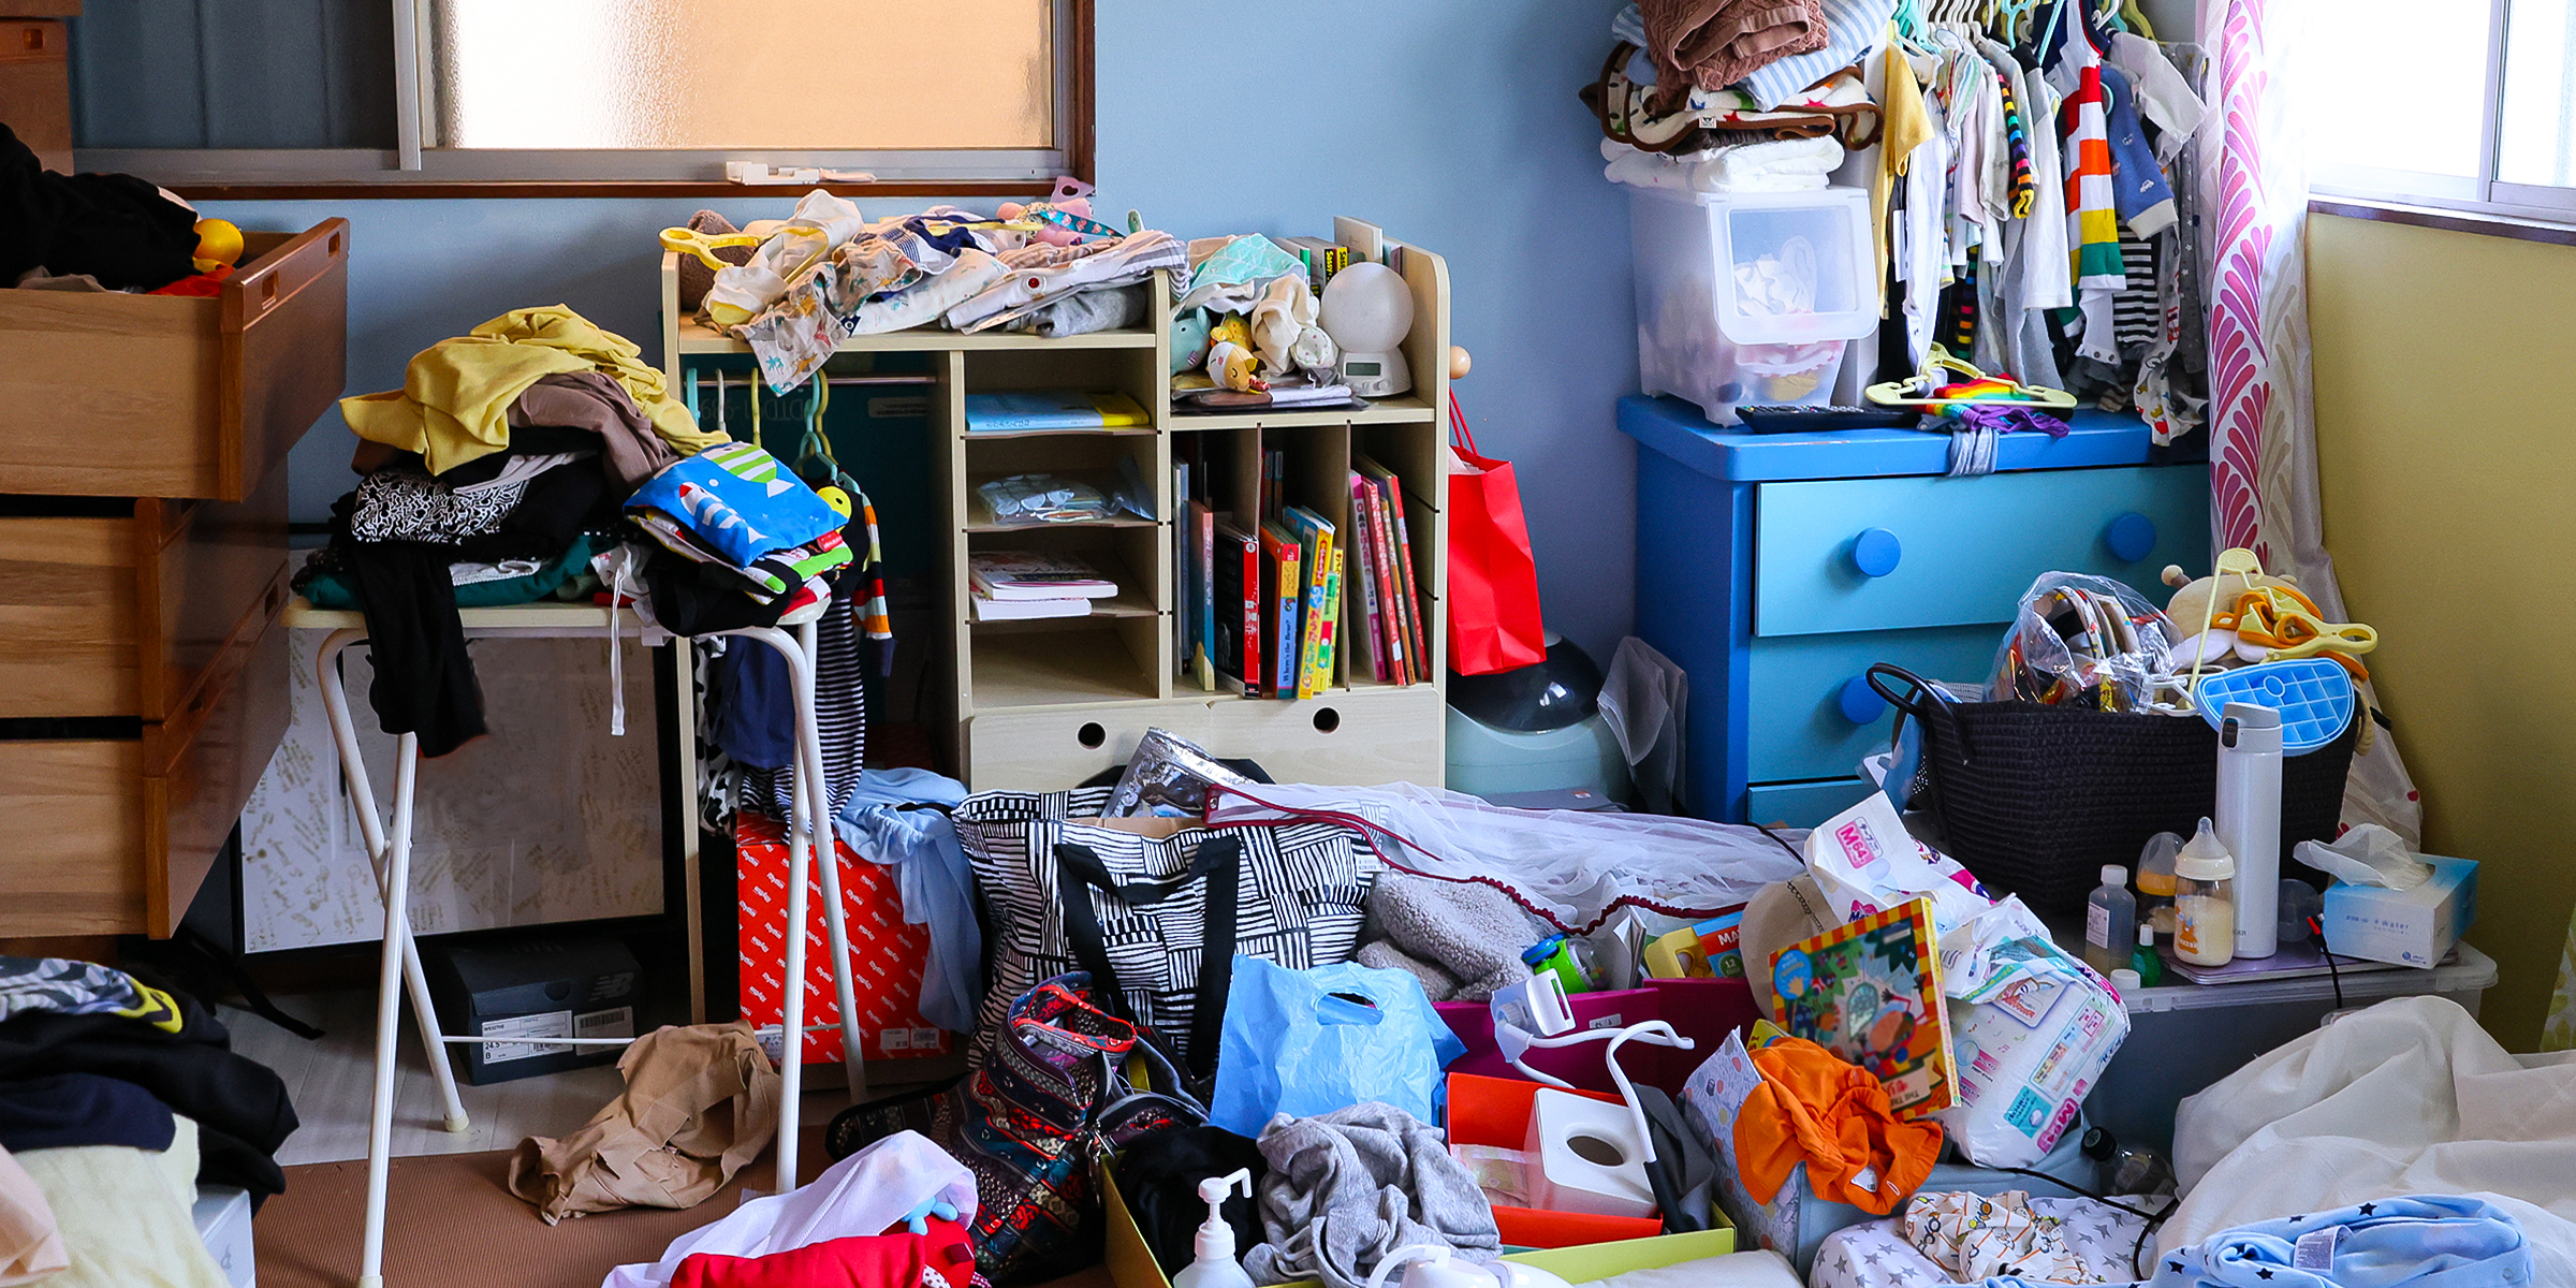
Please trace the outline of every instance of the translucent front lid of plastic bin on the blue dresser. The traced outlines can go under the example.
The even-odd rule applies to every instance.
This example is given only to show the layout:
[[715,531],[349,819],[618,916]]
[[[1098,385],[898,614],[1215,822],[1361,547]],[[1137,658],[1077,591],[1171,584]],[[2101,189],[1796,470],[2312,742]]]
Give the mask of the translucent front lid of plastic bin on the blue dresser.
[[1718,330],[1739,345],[1860,340],[1878,325],[1870,193],[1700,196],[1718,250]]

